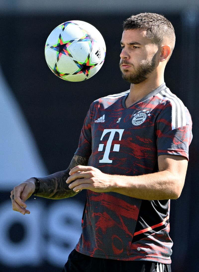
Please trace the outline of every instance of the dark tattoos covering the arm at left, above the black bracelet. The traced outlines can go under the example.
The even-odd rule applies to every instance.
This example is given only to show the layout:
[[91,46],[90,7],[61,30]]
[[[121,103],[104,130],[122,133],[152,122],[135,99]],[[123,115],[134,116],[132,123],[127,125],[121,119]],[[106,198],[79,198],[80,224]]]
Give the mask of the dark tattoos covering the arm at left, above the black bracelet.
[[37,196],[62,199],[70,196],[75,196],[77,193],[70,189],[66,183],[70,176],[68,173],[77,165],[87,165],[88,159],[74,155],[69,167],[65,171],[60,171],[44,178],[39,178],[40,186]]

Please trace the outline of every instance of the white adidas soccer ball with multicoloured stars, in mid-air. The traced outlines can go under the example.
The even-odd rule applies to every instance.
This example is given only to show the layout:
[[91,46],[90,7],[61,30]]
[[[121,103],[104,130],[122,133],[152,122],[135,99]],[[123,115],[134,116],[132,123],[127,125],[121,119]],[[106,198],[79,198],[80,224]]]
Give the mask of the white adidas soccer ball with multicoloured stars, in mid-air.
[[59,78],[83,81],[94,76],[104,63],[106,45],[100,32],[83,21],[57,26],[45,44],[48,67]]

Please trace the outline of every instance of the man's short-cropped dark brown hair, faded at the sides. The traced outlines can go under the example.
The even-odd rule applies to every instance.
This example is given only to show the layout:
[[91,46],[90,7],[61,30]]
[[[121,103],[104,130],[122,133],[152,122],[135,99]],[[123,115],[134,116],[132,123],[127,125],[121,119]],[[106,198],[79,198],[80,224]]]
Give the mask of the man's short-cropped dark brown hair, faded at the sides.
[[161,46],[165,41],[169,41],[173,51],[176,40],[174,28],[163,15],[147,12],[132,15],[123,23],[123,30],[128,29],[145,29],[154,44]]

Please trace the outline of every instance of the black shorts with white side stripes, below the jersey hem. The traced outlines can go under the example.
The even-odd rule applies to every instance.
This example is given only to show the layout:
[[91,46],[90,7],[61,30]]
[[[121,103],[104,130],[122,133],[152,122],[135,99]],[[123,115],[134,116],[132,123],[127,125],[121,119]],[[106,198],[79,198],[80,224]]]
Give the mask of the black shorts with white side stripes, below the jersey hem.
[[151,261],[117,261],[94,258],[77,252],[68,256],[62,272],[171,272],[170,264]]

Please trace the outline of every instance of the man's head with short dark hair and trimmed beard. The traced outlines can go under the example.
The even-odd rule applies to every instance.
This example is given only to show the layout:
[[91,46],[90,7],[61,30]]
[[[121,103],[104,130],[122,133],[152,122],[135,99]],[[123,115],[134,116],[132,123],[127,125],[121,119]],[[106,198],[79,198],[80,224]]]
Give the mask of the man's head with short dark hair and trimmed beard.
[[123,29],[120,55],[123,78],[139,84],[157,67],[163,72],[175,45],[170,21],[159,14],[140,13],[124,21]]

